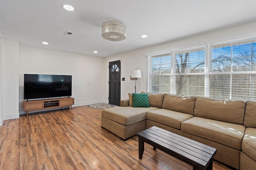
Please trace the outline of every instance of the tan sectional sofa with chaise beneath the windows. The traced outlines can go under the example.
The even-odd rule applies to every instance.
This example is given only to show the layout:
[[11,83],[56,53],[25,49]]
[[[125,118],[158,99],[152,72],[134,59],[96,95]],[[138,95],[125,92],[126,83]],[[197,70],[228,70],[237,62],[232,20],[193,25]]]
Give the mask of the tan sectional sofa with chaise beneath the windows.
[[256,169],[256,102],[218,100],[173,94],[148,94],[150,107],[102,110],[102,127],[122,139],[157,126],[217,149],[214,156],[228,166]]

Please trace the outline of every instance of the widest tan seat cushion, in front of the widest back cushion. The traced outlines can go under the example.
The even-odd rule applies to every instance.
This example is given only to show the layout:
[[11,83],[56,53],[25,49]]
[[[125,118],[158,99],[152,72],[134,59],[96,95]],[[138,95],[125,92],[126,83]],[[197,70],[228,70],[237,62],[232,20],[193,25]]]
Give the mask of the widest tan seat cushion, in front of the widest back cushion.
[[192,117],[181,124],[181,131],[228,147],[241,149],[245,126],[202,117]]

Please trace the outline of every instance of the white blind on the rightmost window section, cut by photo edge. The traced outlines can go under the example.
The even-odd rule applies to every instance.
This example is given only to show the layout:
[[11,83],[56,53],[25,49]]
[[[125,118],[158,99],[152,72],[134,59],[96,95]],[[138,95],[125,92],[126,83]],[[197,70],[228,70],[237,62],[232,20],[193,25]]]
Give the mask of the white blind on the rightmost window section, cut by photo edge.
[[212,46],[210,97],[256,100],[256,43]]

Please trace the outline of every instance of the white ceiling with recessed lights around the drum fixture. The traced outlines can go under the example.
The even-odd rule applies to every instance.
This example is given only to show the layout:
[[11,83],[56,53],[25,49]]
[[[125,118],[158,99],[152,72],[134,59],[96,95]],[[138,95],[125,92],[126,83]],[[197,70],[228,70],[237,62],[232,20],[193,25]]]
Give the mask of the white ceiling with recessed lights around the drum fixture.
[[[101,37],[102,23],[109,20],[126,24],[124,41]],[[254,20],[256,0],[0,0],[5,39],[100,57]],[[66,31],[73,34],[63,35]]]

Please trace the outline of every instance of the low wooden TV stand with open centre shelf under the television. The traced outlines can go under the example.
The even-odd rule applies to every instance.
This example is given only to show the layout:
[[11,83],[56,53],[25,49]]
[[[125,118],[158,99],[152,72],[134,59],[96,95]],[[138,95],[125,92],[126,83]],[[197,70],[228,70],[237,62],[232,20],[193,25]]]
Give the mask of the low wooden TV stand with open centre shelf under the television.
[[58,107],[69,107],[72,109],[74,104],[74,98],[56,98],[56,99],[44,99],[44,100],[31,100],[23,101],[23,111],[37,111],[43,109],[52,109]]

